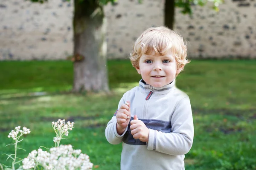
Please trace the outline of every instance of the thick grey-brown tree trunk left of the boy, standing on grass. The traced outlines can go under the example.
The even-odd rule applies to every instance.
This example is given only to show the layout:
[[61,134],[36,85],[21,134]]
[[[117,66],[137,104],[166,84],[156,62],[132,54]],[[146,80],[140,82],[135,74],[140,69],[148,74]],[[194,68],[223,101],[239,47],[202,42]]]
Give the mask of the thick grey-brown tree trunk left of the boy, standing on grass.
[[97,0],[75,0],[73,91],[108,91],[106,23]]

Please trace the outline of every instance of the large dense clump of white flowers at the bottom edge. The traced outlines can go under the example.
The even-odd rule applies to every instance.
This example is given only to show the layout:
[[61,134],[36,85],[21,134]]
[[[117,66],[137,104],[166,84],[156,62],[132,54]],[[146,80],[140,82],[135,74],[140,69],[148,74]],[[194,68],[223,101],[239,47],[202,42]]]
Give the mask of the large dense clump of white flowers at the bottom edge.
[[70,144],[52,147],[49,153],[42,149],[33,150],[22,163],[25,170],[38,165],[46,170],[91,170],[93,167],[89,156],[81,150],[73,150]]

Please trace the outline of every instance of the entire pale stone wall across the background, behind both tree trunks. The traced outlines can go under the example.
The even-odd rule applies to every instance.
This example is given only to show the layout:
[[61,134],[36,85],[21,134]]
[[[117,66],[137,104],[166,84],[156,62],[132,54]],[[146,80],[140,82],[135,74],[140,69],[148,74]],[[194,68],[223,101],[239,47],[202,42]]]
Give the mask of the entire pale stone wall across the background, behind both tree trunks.
[[[0,1],[0,60],[66,59],[73,53],[73,2]],[[188,41],[190,57],[256,58],[256,2],[225,0],[216,13],[193,6],[192,17],[176,9],[175,31]],[[105,6],[109,58],[127,58],[133,42],[163,25],[164,0],[119,0]]]

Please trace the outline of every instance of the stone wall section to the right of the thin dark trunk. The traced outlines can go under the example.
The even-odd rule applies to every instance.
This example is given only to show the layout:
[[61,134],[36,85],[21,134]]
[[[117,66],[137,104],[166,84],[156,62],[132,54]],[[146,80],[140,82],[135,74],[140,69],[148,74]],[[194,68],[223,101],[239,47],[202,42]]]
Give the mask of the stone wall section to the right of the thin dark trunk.
[[188,41],[189,56],[256,58],[256,1],[225,0],[218,13],[211,7],[193,6],[192,17],[175,17],[175,29]]

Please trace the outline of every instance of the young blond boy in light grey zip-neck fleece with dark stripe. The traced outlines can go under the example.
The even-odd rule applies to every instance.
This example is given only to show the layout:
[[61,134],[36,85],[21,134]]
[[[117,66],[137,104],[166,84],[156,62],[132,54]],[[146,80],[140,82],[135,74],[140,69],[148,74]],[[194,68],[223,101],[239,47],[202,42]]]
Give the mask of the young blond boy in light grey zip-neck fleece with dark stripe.
[[134,43],[131,63],[142,79],[127,91],[105,129],[122,142],[121,170],[184,170],[194,128],[189,97],[175,77],[189,62],[182,37],[166,27],[148,28]]

